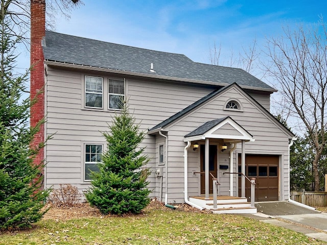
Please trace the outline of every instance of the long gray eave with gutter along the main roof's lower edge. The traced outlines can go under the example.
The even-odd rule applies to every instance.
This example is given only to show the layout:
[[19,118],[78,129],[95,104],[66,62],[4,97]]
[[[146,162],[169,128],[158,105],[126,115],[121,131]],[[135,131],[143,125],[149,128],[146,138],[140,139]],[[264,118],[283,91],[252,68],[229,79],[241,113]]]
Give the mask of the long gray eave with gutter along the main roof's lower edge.
[[[66,63],[66,62],[60,62],[60,61],[45,60],[44,64],[59,66],[59,67],[65,67],[65,68],[75,68],[75,69],[83,69],[83,70],[111,72],[111,73],[115,73],[115,74],[137,76],[137,77],[143,77],[143,78],[152,78],[152,79],[161,79],[161,80],[168,80],[168,81],[197,83],[197,84],[215,85],[215,86],[222,86],[222,87],[225,87],[225,86],[229,85],[228,83],[223,83],[223,82],[211,82],[211,81],[203,81],[203,80],[197,80],[197,79],[160,76],[160,75],[156,75],[156,74],[144,74],[144,73],[135,72],[135,71],[118,70],[118,69],[111,69],[111,68],[104,68],[104,67],[73,64],[73,63]],[[240,87],[243,88],[243,89],[265,91],[265,92],[270,92],[270,93],[277,92],[276,89],[269,89],[269,88],[259,88],[259,87],[251,87],[251,86],[240,86]]]

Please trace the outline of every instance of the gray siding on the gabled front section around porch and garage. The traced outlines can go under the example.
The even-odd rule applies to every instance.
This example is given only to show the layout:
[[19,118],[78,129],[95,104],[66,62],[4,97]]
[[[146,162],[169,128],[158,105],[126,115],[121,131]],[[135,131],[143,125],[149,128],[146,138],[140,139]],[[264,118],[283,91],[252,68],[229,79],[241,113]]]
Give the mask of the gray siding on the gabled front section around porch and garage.
[[[243,111],[227,111],[224,110],[223,106],[225,101],[230,97],[237,98],[243,106]],[[205,114],[205,117],[203,117]],[[213,98],[211,101],[205,103],[201,107],[190,112],[188,115],[180,118],[175,124],[167,127],[170,135],[170,145],[172,145],[172,153],[170,153],[169,163],[172,166],[183,166],[183,154],[178,152],[183,152],[185,143],[183,142],[184,135],[189,132],[192,132],[197,127],[204,124],[204,122],[222,118],[225,116],[231,116],[233,120],[238,122],[245,130],[255,138],[254,142],[245,143],[245,152],[252,154],[275,154],[280,156],[288,155],[288,135],[280,128],[277,127],[276,122],[271,118],[267,117],[266,112],[258,106],[254,106],[252,101],[241,91],[237,91],[235,88],[231,88],[228,91],[225,91],[219,97]],[[238,143],[237,149],[233,154],[234,164],[236,163],[236,152],[241,151],[241,143]],[[193,154],[193,149],[189,149],[189,154]],[[219,162],[225,163],[225,159],[228,161],[228,154],[220,154]],[[282,180],[281,190],[281,199],[288,198],[288,159],[282,157],[281,170],[282,175],[285,177]],[[195,169],[194,157],[189,156],[189,182],[192,181],[192,170]],[[198,161],[199,162],[199,161]],[[227,162],[229,165],[229,162]],[[177,169],[174,169],[176,172]],[[233,168],[233,171],[236,171],[236,168]],[[220,171],[221,172],[221,171]],[[183,168],[180,168],[180,176],[183,175]],[[222,195],[229,195],[229,177],[222,176],[220,173],[220,191]],[[236,183],[236,177],[234,178],[234,183]],[[182,179],[179,178],[179,181],[182,182]],[[169,183],[169,185],[176,185],[177,188],[180,188],[181,183],[174,181]],[[194,187],[189,187],[189,195],[196,193]],[[234,193],[236,191],[236,184],[234,186]]]

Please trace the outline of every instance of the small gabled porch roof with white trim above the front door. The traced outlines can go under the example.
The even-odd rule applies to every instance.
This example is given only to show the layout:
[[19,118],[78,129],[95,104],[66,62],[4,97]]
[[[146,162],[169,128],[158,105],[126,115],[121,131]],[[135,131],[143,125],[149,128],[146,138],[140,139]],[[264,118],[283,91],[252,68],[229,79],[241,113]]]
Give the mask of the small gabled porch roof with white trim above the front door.
[[253,136],[230,116],[207,121],[184,137],[185,142],[205,138],[254,141]]

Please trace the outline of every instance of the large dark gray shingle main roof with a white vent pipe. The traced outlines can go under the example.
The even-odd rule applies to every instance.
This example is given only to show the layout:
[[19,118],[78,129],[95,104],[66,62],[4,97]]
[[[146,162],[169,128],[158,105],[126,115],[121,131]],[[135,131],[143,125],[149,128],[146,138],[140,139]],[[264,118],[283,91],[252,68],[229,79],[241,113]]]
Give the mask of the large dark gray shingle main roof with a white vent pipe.
[[[198,80],[219,86],[238,83],[241,87],[276,91],[248,72],[217,65],[193,62],[181,54],[114,44],[93,39],[46,31],[44,59],[60,63],[101,67],[135,72],[180,81]],[[154,72],[150,71],[150,64]]]

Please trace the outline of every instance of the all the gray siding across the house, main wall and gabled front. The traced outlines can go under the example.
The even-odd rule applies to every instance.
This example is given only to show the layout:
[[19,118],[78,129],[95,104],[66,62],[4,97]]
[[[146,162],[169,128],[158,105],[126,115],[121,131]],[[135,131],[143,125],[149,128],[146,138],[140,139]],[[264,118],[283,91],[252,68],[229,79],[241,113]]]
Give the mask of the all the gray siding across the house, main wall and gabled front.
[[[89,187],[89,182],[84,178],[83,145],[87,143],[101,143],[105,140],[101,132],[107,130],[107,124],[111,123],[113,110],[107,110],[107,87],[108,78],[125,79],[126,99],[128,100],[130,112],[140,123],[140,129],[147,131],[161,121],[174,115],[185,107],[198,101],[203,96],[212,92],[212,86],[195,85],[188,83],[175,83],[169,81],[146,80],[131,77],[111,76],[104,73],[82,72],[79,70],[59,70],[48,66],[46,69],[46,111],[48,112],[46,122],[47,134],[54,134],[53,139],[46,146],[45,184],[47,187],[70,183],[76,185],[80,191]],[[84,77],[102,77],[104,109],[84,108]],[[266,109],[269,109],[269,94],[252,91],[250,95],[259,101]],[[227,100],[235,98],[242,103],[243,112],[227,111],[223,106]],[[262,109],[261,109],[262,110]],[[242,127],[250,132],[255,142],[247,142],[248,152],[278,152],[285,155],[284,163],[287,162],[287,137],[280,129],[267,119],[263,112],[251,104],[246,96],[231,89],[219,98],[215,98],[195,111],[191,112],[177,121],[174,126],[167,128],[169,136],[168,143],[168,203],[183,203],[184,191],[184,135],[188,134],[204,122],[217,119],[226,115],[232,117]],[[120,113],[116,111],[116,113]],[[205,114],[205,117],[203,116]],[[159,144],[165,144],[162,136],[146,135],[140,147],[145,148],[145,154],[149,156],[148,167],[152,171],[149,177],[149,189],[153,192],[151,197],[159,197],[160,178],[155,177],[155,169],[162,167],[164,170],[162,178],[162,201],[166,190],[166,165],[159,165]],[[240,144],[238,151],[240,150]],[[225,154],[226,155],[226,154]],[[228,158],[228,154],[220,157],[219,161]],[[199,175],[193,176],[193,171],[199,171],[199,154],[189,149],[188,185],[189,195],[199,194]],[[228,158],[229,159],[229,158]],[[236,153],[234,154],[234,162]],[[283,163],[283,175],[287,177],[288,166]],[[228,163],[229,164],[229,163]],[[235,171],[236,169],[234,169]],[[236,177],[233,177],[236,180]],[[229,194],[229,177],[221,177],[220,190]],[[283,182],[285,192],[288,188],[287,178]],[[235,181],[236,182],[236,181]],[[236,186],[234,187],[236,191]],[[227,193],[228,192],[228,193]]]

